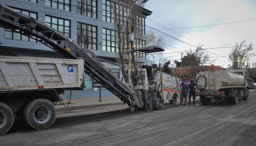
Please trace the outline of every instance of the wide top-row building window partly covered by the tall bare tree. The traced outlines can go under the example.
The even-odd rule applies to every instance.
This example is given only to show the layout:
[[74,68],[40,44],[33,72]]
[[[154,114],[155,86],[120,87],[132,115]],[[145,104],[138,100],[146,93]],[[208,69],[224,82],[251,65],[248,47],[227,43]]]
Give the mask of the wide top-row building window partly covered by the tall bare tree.
[[[116,13],[115,13],[116,11]],[[129,9],[123,5],[112,4],[108,0],[103,0],[102,2],[102,20],[114,23],[115,17],[121,21],[121,25],[126,24],[128,19]]]

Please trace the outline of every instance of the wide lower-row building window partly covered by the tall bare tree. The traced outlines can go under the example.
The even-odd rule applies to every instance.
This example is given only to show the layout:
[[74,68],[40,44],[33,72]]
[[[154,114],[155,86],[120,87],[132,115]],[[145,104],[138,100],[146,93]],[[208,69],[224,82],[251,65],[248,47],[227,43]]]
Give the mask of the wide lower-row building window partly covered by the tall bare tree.
[[120,43],[121,48],[127,48],[127,35],[121,33],[121,40],[118,40],[117,33],[114,30],[102,29],[102,49],[108,52],[118,52],[118,43]]

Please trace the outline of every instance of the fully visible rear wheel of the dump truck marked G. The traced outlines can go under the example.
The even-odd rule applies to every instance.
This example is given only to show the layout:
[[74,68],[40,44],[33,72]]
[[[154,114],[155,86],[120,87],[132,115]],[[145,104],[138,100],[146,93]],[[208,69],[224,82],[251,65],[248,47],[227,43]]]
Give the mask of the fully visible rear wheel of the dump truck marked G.
[[35,129],[45,129],[52,125],[56,118],[54,105],[46,99],[35,99],[27,104],[23,119],[28,126]]

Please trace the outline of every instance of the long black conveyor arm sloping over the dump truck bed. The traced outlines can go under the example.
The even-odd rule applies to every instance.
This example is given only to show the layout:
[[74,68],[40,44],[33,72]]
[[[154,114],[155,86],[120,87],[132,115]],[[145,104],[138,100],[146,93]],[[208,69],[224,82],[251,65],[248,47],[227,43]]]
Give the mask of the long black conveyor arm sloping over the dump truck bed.
[[81,48],[76,42],[52,27],[20,12],[16,12],[3,4],[0,4],[0,14],[0,27],[36,39],[59,52],[65,58],[77,59],[82,57],[84,59],[85,73],[92,78],[96,77],[103,87],[107,88],[124,103],[129,103],[130,96],[134,105],[143,108],[143,105],[140,105],[140,103],[134,103],[133,97],[135,97],[135,94],[132,89],[125,86],[108,68],[100,63],[92,51]]

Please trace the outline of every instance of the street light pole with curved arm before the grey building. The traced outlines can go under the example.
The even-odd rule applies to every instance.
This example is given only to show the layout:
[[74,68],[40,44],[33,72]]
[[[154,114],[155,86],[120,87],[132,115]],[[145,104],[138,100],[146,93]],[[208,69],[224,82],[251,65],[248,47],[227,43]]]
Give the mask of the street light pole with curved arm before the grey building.
[[[137,2],[138,0],[135,0],[133,3],[132,3],[132,6],[131,8],[133,7],[133,5]],[[141,4],[143,3],[146,3],[148,0],[143,0],[141,2]],[[128,50],[132,49],[132,46],[133,46],[133,42],[134,42],[134,33],[133,33],[133,30],[132,30],[132,26],[133,26],[133,23],[131,22],[132,21],[132,11],[134,11],[137,7],[139,7],[141,4],[138,4],[135,8],[133,8],[131,10],[130,8],[130,12],[129,12],[129,44],[128,44]],[[131,61],[131,52],[128,53],[128,65],[131,65],[132,64],[132,61]]]

